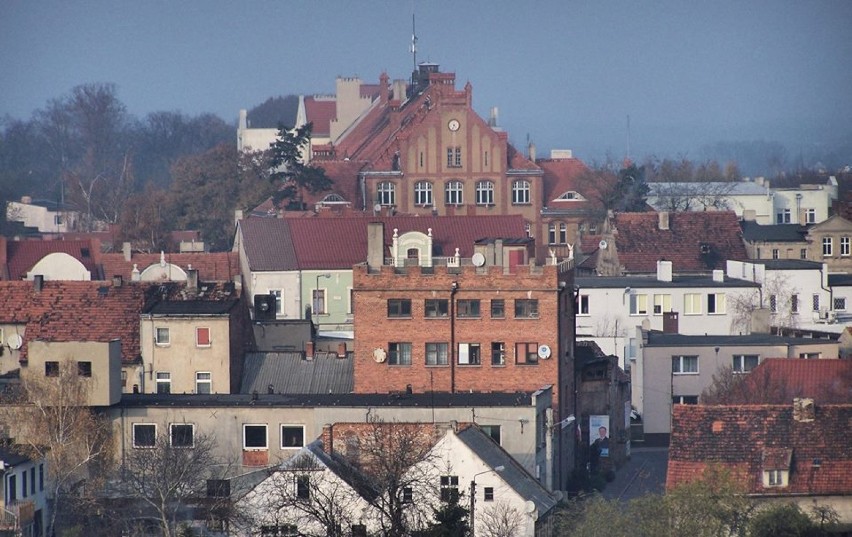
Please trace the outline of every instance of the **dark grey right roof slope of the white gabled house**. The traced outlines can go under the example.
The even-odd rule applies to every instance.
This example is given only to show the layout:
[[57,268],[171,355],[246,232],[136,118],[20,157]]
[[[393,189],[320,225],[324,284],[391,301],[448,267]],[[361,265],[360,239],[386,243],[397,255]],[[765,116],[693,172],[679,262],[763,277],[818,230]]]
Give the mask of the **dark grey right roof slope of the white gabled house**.
[[527,501],[535,502],[539,518],[553,509],[559,499],[530,475],[500,445],[477,426],[459,431],[458,438],[491,468],[503,466],[500,478]]

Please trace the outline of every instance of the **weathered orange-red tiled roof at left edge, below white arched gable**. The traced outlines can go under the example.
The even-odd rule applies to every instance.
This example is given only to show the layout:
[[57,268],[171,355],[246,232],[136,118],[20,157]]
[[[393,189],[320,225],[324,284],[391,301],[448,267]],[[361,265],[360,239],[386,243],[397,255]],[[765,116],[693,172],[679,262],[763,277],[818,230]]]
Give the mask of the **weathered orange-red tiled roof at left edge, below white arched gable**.
[[22,361],[32,340],[120,339],[122,361],[133,362],[140,352],[140,314],[156,290],[148,283],[45,281],[39,291],[29,281],[0,282],[0,323],[26,326]]

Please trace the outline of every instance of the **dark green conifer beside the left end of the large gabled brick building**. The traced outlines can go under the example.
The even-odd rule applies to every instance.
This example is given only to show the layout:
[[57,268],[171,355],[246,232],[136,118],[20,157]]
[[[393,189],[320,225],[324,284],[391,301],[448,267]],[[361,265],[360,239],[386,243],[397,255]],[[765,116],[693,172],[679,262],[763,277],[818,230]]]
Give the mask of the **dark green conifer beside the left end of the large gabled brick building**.
[[308,123],[288,130],[278,128],[278,138],[270,146],[270,167],[274,170],[270,179],[278,187],[272,196],[273,202],[288,209],[302,210],[304,193],[317,194],[330,190],[333,183],[325,171],[317,166],[304,164],[309,151],[311,130]]

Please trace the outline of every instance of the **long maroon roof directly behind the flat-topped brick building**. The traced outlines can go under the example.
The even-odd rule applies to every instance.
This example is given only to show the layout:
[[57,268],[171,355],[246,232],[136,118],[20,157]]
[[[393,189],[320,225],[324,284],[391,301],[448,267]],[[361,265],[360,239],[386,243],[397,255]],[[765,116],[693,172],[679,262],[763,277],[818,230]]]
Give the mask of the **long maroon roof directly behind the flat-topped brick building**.
[[[524,220],[512,216],[355,216],[340,218],[249,218],[240,221],[243,247],[252,271],[351,269],[367,260],[367,226],[385,226],[385,245],[394,229],[427,233],[442,256],[473,255],[484,238],[526,238]],[[385,248],[387,252],[387,248]]]

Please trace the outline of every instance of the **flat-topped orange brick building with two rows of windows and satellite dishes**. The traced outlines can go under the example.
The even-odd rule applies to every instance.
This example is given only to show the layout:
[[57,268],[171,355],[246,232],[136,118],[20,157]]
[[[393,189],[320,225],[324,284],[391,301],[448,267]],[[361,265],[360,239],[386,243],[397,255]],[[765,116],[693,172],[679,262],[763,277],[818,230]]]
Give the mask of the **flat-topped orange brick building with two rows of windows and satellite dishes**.
[[[476,242],[470,259],[433,265],[429,236],[408,232],[387,251],[371,224],[368,261],[353,268],[356,393],[517,392],[552,385],[542,431],[565,483],[574,412],[573,267],[536,264],[529,239]],[[568,429],[570,432],[570,429]],[[570,444],[570,445],[569,445]]]

